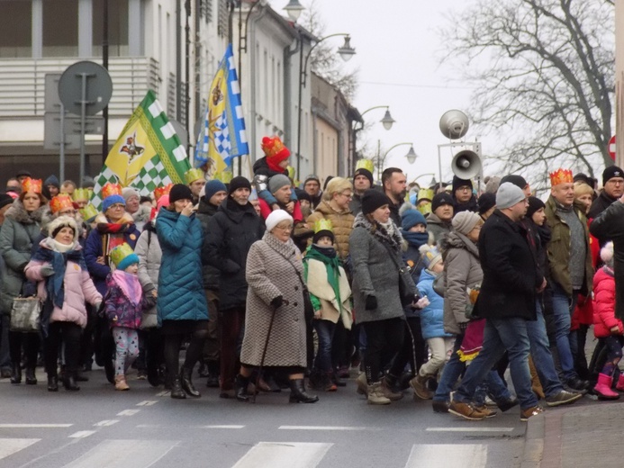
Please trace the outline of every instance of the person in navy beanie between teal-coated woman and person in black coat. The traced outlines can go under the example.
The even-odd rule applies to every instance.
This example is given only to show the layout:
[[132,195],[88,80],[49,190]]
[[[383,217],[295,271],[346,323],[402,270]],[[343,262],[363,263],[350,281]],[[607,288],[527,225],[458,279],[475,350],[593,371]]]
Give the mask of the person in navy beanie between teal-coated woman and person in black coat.
[[[197,219],[202,223],[204,251],[208,245],[208,221],[219,209],[219,205],[228,196],[228,189],[222,181],[213,179],[203,187],[203,196],[199,199]],[[207,252],[206,252],[207,254]],[[202,257],[205,257],[204,255]],[[219,310],[219,275],[217,268],[202,263],[203,292],[206,295],[209,311]],[[203,346],[199,367],[199,376],[208,377],[207,387],[219,386],[219,314],[212,313],[208,318],[208,338]]]

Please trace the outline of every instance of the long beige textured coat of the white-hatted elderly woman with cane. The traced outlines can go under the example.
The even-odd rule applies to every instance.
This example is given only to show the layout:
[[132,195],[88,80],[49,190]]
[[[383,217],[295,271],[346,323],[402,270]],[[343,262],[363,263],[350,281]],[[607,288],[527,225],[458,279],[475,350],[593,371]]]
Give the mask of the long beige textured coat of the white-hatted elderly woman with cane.
[[[303,286],[295,268],[303,276],[301,252],[290,239],[284,243],[266,232],[249,249],[245,269],[249,290],[241,363],[260,365],[268,325],[275,313],[264,365],[307,365]],[[284,303],[274,311],[271,302],[279,296]]]

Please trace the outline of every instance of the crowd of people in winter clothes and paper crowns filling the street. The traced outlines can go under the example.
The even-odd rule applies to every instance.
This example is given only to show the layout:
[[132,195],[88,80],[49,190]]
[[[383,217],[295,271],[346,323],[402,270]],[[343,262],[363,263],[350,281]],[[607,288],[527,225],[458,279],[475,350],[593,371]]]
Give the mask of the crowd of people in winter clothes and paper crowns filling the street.
[[370,404],[411,388],[466,419],[624,392],[619,167],[600,191],[557,169],[543,201],[520,175],[481,192],[457,175],[407,186],[391,167],[375,185],[366,160],[295,187],[288,148],[262,148],[252,180],[191,169],[149,197],[109,183],[100,211],[88,181],[9,179],[0,377],[37,384],[42,362],[48,391],[78,391],[95,362],[118,391],[132,366],[174,399],[200,397],[199,375],[222,398],[313,403],[359,368]]

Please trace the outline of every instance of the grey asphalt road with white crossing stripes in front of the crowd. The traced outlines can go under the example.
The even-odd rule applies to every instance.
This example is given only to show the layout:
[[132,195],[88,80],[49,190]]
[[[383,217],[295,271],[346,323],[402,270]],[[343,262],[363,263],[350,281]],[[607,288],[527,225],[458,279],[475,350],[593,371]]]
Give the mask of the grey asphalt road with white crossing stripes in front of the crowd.
[[517,467],[526,423],[520,410],[466,421],[430,401],[371,406],[354,379],[315,404],[289,404],[288,392],[256,404],[226,401],[203,387],[176,401],[129,376],[115,392],[104,373],[80,392],[47,392],[0,381],[0,467],[413,468]]

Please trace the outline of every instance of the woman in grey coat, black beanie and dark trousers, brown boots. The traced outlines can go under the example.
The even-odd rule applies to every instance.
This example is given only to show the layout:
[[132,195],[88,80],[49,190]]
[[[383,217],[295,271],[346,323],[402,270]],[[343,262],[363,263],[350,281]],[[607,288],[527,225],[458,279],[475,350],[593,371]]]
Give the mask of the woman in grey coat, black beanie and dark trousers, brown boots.
[[[362,196],[362,212],[349,238],[353,263],[353,300],[356,318],[366,332],[367,397],[370,404],[402,398],[381,378],[382,356],[393,358],[402,347],[405,314],[399,294],[402,236],[390,219],[390,200],[377,190]],[[416,286],[411,283],[411,293]]]

